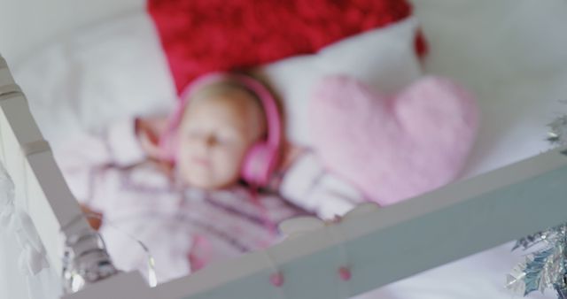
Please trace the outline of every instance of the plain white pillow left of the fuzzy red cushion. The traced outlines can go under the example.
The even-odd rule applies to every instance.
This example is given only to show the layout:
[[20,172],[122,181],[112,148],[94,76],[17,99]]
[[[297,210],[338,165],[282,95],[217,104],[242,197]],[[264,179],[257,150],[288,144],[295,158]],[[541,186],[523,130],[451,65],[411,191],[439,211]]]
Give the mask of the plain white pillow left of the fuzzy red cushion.
[[166,113],[176,103],[166,58],[144,11],[52,42],[13,73],[52,145],[118,119]]

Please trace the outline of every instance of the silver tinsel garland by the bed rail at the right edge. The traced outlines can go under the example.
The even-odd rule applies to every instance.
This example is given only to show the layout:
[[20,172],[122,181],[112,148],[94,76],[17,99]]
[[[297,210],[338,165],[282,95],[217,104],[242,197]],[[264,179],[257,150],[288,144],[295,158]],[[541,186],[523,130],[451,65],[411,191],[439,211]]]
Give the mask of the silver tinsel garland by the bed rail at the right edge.
[[[548,141],[567,145],[567,115],[548,126]],[[536,249],[509,273],[507,288],[524,296],[536,290],[555,289],[557,298],[567,299],[567,224],[525,236],[512,250],[518,248]]]

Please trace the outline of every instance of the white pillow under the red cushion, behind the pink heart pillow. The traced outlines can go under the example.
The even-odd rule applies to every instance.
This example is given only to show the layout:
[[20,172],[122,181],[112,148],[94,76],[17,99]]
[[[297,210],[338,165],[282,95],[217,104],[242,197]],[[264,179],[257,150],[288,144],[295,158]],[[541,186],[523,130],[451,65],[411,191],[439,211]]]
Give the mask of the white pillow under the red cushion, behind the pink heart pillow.
[[310,145],[307,111],[311,88],[330,74],[346,74],[382,92],[391,93],[421,76],[414,41],[413,17],[335,42],[315,55],[287,58],[265,65],[267,76],[285,108],[286,133],[291,142]]

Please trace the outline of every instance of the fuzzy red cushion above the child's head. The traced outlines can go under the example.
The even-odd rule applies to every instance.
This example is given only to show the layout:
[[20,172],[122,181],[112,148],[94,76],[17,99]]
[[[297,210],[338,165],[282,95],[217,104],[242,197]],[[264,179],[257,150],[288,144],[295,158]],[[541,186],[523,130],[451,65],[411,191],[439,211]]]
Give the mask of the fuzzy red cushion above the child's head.
[[[405,0],[149,0],[181,92],[199,74],[298,54],[411,15]],[[424,50],[423,40],[416,46]]]

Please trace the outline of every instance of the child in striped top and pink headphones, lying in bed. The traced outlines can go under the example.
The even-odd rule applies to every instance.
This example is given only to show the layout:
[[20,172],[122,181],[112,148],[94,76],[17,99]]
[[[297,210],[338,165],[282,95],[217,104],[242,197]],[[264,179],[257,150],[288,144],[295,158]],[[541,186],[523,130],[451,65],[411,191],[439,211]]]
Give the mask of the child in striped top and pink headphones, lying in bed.
[[360,201],[283,142],[276,100],[258,80],[214,73],[182,99],[171,118],[126,120],[56,151],[74,195],[102,215],[96,225],[121,269],[147,263],[126,234],[150,249],[164,281],[265,248],[279,222],[306,210],[332,218]]

